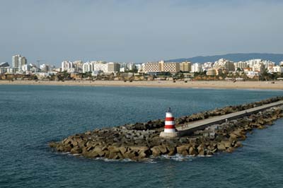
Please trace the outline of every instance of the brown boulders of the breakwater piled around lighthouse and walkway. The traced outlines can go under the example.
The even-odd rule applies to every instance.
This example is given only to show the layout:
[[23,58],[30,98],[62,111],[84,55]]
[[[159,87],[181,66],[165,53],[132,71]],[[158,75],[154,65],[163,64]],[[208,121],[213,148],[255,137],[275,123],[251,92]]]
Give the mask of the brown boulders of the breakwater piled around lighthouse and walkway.
[[[251,107],[283,100],[282,97],[270,98],[246,105],[236,105],[210,110],[190,116],[176,118],[176,127],[187,122],[229,114]],[[86,158],[109,158],[146,160],[160,155],[213,155],[217,152],[232,152],[246,139],[246,133],[253,129],[264,129],[275,119],[283,117],[283,106],[233,119],[223,124],[214,124],[204,130],[193,132],[190,136],[173,139],[159,137],[164,121],[157,119],[146,123],[125,124],[119,127],[95,129],[83,134],[69,136],[62,141],[50,142],[57,152],[69,152]]]

